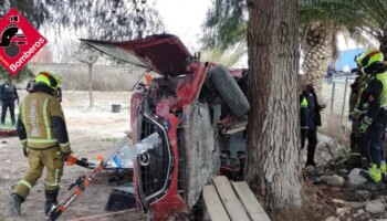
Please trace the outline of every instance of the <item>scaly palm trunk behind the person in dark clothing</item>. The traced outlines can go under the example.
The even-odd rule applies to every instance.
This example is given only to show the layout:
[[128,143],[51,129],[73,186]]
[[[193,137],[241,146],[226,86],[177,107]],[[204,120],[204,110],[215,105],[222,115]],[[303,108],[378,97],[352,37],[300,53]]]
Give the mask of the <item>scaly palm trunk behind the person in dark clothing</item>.
[[321,102],[324,102],[322,96],[323,81],[332,54],[332,32],[330,27],[316,23],[306,33],[302,70],[306,74],[307,83],[313,84]]

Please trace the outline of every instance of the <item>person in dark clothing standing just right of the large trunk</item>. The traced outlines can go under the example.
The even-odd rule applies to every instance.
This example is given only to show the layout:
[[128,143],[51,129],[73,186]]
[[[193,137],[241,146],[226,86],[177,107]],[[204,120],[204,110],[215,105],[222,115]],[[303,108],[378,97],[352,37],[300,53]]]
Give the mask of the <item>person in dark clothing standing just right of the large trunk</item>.
[[314,154],[317,146],[317,126],[321,126],[320,112],[325,107],[318,104],[317,96],[314,92],[313,85],[307,84],[300,95],[301,107],[301,147],[304,148],[305,139],[307,138],[307,166],[316,166],[314,161]]

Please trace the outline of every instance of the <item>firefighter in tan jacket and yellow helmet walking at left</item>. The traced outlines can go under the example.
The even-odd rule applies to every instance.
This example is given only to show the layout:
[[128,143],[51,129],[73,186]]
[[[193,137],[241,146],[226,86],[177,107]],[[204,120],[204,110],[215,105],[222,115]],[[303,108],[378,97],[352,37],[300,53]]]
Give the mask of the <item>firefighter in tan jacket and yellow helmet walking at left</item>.
[[18,135],[29,160],[29,170],[10,197],[11,214],[20,215],[20,206],[42,176],[44,167],[45,213],[57,203],[63,165],[71,152],[63,110],[55,95],[62,80],[55,73],[40,72],[35,82],[19,107]]

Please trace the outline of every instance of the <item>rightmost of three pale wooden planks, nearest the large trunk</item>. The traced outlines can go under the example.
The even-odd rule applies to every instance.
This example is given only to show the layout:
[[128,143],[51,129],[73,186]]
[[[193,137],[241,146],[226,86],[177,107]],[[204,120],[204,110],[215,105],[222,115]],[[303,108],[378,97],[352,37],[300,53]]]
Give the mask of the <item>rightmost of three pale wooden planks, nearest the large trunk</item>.
[[263,210],[262,206],[254,197],[254,193],[251,191],[250,187],[245,181],[232,182],[232,187],[237,192],[237,196],[242,201],[245,210],[251,220],[253,221],[270,221],[269,215]]

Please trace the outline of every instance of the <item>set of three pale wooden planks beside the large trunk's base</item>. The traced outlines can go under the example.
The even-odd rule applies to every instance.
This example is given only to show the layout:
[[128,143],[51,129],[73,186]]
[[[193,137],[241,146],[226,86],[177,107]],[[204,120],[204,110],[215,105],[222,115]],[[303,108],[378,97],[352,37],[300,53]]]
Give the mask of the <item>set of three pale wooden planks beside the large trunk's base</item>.
[[203,189],[205,221],[270,221],[254,193],[244,181],[213,178]]

